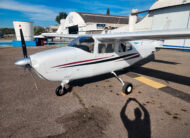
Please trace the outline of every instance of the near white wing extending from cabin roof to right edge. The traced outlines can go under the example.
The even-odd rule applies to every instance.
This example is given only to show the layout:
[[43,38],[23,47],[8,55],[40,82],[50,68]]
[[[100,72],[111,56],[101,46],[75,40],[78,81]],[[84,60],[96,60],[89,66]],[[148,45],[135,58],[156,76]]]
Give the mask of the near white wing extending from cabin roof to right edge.
[[128,40],[128,41],[142,40],[142,39],[152,39],[152,40],[186,39],[190,38],[190,29],[97,34],[92,36],[100,41],[109,41],[111,39]]

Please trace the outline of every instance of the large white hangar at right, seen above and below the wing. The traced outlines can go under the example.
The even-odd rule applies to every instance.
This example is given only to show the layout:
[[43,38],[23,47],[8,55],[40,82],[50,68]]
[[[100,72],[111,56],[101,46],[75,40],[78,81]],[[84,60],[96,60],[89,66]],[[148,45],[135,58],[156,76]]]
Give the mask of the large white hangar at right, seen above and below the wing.
[[[137,22],[141,13],[147,14]],[[190,29],[190,0],[157,0],[149,10],[133,10],[129,16],[129,25],[114,29],[111,33],[185,28]],[[190,40],[165,40],[164,46],[190,47]]]

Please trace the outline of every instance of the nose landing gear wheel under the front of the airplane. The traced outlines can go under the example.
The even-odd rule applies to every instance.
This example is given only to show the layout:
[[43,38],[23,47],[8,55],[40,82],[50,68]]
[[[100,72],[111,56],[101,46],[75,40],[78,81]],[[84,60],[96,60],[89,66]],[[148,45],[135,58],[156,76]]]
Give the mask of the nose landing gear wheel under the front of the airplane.
[[[57,87],[55,93],[57,96],[62,96],[67,93],[66,85],[68,85],[69,81],[62,81],[61,85]],[[68,87],[68,86],[67,86]]]

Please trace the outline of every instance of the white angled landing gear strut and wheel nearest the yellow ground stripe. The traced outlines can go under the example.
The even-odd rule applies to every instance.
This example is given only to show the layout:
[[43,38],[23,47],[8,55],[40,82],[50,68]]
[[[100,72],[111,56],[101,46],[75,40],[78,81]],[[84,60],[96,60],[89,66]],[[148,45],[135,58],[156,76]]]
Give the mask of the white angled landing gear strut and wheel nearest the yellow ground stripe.
[[132,91],[133,91],[133,85],[132,85],[131,83],[128,83],[128,82],[123,82],[123,80],[122,80],[121,78],[119,78],[119,77],[117,76],[117,74],[116,74],[114,71],[112,71],[111,73],[112,73],[112,74],[121,82],[121,84],[123,85],[123,87],[122,87],[122,92],[123,92],[124,94],[126,94],[126,95],[131,94]]

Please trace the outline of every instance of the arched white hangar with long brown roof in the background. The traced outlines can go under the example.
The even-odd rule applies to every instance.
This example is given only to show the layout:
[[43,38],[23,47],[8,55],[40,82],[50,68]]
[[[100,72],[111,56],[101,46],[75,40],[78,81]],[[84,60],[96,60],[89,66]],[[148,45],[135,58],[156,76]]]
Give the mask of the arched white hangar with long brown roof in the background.
[[98,34],[103,30],[109,31],[128,23],[128,16],[70,12],[67,18],[62,20],[57,33]]

